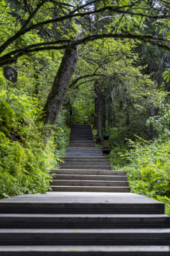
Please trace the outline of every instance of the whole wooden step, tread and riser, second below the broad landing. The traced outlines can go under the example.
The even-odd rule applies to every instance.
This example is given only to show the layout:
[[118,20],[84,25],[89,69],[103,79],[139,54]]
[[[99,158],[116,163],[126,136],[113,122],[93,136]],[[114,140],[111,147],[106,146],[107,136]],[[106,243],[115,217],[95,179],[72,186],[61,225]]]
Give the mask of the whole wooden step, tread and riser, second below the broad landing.
[[6,228],[0,245],[169,245],[169,228]]

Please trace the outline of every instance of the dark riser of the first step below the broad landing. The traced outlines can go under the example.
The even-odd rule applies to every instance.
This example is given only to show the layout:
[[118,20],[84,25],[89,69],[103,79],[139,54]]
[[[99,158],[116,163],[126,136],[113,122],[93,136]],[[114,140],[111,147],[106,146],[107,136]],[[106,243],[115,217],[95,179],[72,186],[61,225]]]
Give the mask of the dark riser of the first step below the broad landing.
[[1,228],[167,228],[166,218],[0,218]]

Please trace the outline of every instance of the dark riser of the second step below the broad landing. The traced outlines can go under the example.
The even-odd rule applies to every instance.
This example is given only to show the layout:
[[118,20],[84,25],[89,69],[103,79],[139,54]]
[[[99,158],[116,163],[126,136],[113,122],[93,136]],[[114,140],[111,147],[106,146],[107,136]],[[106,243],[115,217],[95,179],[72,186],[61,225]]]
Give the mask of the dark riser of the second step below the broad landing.
[[[77,233],[76,233],[77,232]],[[0,234],[0,245],[169,245],[165,233],[11,233]]]

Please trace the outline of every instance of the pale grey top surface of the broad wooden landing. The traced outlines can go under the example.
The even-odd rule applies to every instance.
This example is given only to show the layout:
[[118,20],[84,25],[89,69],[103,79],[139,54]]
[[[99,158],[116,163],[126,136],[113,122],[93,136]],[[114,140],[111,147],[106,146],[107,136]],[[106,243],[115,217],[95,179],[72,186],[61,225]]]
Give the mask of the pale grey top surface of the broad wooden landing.
[[1,200],[1,205],[5,204],[15,204],[18,202],[55,202],[55,203],[78,203],[78,204],[154,204],[154,205],[161,205],[164,204],[157,200],[153,200],[146,196],[134,194],[134,193],[107,193],[104,192],[102,195],[94,192],[94,193],[87,193],[82,192],[81,195],[78,192],[47,192],[46,194],[27,194],[27,195],[20,195],[11,198],[4,198]]

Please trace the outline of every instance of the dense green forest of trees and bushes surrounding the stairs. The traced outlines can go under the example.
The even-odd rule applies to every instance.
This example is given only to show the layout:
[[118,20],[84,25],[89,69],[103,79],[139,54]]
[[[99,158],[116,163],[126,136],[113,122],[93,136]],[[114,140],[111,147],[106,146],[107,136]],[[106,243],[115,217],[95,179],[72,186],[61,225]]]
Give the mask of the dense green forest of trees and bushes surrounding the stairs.
[[[169,0],[0,1],[0,197],[45,193],[72,124],[170,214]],[[17,82],[4,77],[17,71]],[[73,115],[70,116],[70,109]]]

